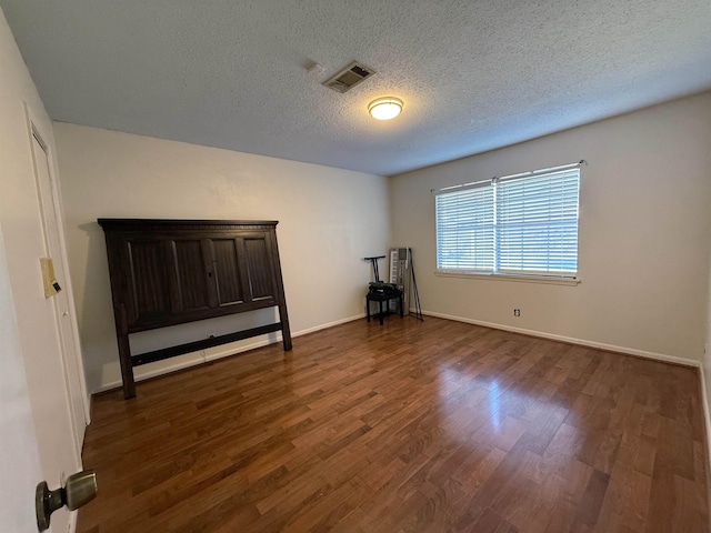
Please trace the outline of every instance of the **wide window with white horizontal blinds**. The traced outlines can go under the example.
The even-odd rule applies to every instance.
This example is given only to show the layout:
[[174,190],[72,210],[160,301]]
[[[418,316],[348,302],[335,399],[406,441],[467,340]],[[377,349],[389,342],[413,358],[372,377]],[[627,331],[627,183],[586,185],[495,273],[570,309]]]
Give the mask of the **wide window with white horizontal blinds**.
[[439,272],[575,278],[580,163],[435,191]]

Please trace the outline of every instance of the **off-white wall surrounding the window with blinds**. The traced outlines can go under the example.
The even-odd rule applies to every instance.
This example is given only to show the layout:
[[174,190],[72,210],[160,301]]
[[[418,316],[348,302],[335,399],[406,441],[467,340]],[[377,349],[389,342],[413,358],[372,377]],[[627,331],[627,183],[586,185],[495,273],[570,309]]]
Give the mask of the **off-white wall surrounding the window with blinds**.
[[[577,286],[434,274],[431,189],[582,168]],[[699,362],[711,244],[711,93],[393,177],[392,242],[413,249],[425,311]],[[514,318],[512,310],[521,309]]]

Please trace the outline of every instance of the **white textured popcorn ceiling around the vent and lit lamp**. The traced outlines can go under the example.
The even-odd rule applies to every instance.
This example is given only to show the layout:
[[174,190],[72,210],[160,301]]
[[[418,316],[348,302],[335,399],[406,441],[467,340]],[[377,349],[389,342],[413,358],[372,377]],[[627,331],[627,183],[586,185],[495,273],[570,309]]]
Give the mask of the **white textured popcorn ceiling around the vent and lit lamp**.
[[[54,120],[378,174],[711,88],[710,0],[0,6]],[[352,60],[378,73],[320,84]]]

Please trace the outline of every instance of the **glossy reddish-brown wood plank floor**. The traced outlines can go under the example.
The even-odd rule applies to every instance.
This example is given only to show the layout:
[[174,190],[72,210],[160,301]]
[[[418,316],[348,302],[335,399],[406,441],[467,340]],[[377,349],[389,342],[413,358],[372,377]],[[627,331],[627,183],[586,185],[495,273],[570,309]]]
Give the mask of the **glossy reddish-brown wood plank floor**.
[[694,369],[391,316],[93,399],[79,532],[707,532]]

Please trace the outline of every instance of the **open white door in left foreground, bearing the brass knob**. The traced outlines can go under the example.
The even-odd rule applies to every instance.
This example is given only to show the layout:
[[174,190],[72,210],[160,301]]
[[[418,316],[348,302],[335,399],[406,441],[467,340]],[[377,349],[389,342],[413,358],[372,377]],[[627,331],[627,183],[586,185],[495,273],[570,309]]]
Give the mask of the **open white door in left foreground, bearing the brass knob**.
[[[0,228],[0,530],[37,531],[34,487],[42,480],[14,303]],[[56,489],[53,486],[52,489]]]

